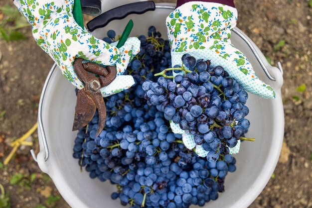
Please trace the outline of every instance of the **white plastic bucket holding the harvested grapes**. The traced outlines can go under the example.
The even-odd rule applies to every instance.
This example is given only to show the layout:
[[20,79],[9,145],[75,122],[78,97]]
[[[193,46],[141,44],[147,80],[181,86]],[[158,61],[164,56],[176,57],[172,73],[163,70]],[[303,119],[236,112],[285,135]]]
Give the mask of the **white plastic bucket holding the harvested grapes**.
[[[107,11],[134,0],[102,0],[102,11]],[[107,29],[114,29],[121,34],[131,18],[134,20],[132,36],[146,34],[150,25],[166,35],[165,17],[172,11],[173,4],[156,4],[155,11],[141,15],[130,15],[123,20],[115,20],[103,29],[94,31],[94,35],[103,38]],[[159,5],[166,5],[159,8]],[[171,6],[171,7],[170,7]],[[268,183],[277,164],[284,135],[284,112],[280,89],[283,84],[282,70],[272,67],[253,42],[251,46],[258,54],[260,62],[268,73],[275,78],[268,78],[257,55],[245,41],[251,41],[239,29],[232,32],[232,43],[239,48],[251,62],[256,74],[265,83],[274,87],[275,100],[265,100],[249,94],[247,106],[250,113],[248,137],[255,137],[254,142],[244,142],[237,159],[237,170],[228,174],[225,180],[225,192],[219,199],[206,204],[206,208],[246,208],[261,193]],[[281,67],[280,67],[281,69]],[[39,104],[39,143],[40,152],[37,162],[40,169],[49,174],[58,191],[73,208],[119,208],[119,200],[112,200],[115,187],[109,182],[102,183],[91,179],[86,171],[80,172],[78,161],[72,157],[74,140],[77,132],[72,132],[76,95],[74,87],[62,76],[54,65],[45,82]],[[44,128],[43,128],[44,127]]]

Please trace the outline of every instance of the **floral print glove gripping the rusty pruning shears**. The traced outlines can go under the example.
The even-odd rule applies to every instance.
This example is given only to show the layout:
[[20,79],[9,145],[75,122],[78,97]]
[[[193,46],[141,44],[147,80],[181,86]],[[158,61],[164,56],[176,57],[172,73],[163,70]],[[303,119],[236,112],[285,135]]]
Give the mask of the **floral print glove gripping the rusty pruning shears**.
[[126,90],[135,83],[132,76],[122,74],[129,61],[140,51],[138,38],[129,38],[120,49],[95,38],[74,20],[74,0],[15,0],[14,4],[32,24],[37,44],[78,89],[83,88],[73,69],[73,62],[78,57],[104,66],[116,65],[118,77],[101,89],[103,97]]

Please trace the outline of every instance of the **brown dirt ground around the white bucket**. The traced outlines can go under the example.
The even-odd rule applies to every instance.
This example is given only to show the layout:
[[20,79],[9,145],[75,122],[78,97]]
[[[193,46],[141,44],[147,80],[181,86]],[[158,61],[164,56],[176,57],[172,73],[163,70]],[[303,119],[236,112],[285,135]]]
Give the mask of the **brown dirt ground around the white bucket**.
[[[282,154],[270,182],[250,208],[312,208],[312,8],[309,0],[235,2],[238,27],[273,65],[281,61],[284,68]],[[12,0],[0,1],[0,6],[6,4]],[[66,208],[53,182],[31,158],[29,147],[2,165],[11,150],[8,144],[36,122],[39,95],[53,64],[35,44],[30,27],[21,31],[28,40],[0,40],[0,184],[9,193],[12,208]],[[281,40],[285,44],[278,44]],[[302,84],[306,90],[299,92]],[[36,133],[32,139],[37,151]]]

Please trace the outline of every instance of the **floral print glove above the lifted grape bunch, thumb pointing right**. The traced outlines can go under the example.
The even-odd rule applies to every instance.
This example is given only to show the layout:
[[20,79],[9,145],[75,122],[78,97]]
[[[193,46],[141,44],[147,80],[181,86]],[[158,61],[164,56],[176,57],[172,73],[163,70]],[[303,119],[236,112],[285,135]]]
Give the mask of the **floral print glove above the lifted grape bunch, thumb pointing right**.
[[246,56],[231,44],[230,29],[236,22],[237,10],[228,5],[190,1],[177,7],[166,19],[172,66],[181,65],[185,53],[209,59],[212,66],[223,66],[245,91],[274,99],[273,88],[257,77]]

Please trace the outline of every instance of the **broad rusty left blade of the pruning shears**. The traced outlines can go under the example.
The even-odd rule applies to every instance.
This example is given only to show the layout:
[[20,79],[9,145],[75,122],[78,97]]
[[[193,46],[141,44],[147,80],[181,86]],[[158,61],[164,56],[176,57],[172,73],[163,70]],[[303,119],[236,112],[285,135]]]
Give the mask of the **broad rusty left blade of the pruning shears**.
[[97,105],[93,98],[85,92],[85,89],[86,88],[83,88],[78,91],[73,131],[86,126],[91,121],[96,111]]

